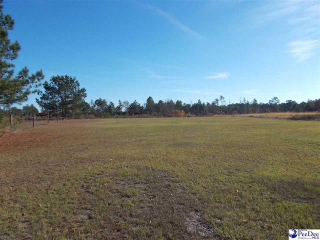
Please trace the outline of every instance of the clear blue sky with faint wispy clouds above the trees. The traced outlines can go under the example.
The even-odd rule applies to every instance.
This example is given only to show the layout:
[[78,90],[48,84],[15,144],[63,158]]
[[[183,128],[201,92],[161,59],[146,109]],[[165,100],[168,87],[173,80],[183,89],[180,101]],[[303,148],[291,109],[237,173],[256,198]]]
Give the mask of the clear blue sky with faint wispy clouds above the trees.
[[[319,1],[4,0],[27,66],[143,104],[320,97]],[[30,95],[23,104],[36,104]]]

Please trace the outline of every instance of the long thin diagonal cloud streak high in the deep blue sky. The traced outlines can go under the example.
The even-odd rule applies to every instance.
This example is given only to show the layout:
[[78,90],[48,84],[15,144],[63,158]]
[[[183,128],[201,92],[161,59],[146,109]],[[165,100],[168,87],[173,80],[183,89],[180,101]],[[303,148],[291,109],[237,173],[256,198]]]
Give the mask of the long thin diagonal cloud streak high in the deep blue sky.
[[195,36],[200,39],[205,39],[204,36],[197,33],[196,31],[190,29],[188,26],[184,25],[182,22],[178,21],[173,15],[169,14],[168,12],[165,12],[165,11],[161,10],[160,8],[157,8],[149,3],[141,3],[141,4],[146,8],[152,9],[158,15],[162,16],[163,18],[165,18],[166,20],[171,22],[173,25],[175,25],[180,30],[187,32],[189,35]]

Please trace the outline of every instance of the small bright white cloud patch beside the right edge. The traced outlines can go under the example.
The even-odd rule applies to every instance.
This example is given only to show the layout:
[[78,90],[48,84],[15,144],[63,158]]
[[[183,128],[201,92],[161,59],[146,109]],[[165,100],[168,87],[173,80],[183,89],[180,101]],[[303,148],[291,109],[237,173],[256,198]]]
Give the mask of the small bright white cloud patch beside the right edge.
[[292,48],[290,53],[296,58],[296,62],[302,62],[314,55],[313,50],[319,47],[318,40],[290,41],[288,45]]

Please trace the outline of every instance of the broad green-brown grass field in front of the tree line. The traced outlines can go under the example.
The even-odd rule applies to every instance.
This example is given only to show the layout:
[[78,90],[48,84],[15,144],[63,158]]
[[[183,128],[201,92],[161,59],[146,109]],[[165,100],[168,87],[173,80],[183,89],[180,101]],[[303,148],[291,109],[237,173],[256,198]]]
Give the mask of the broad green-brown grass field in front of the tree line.
[[50,122],[0,136],[0,239],[287,239],[320,228],[320,122]]

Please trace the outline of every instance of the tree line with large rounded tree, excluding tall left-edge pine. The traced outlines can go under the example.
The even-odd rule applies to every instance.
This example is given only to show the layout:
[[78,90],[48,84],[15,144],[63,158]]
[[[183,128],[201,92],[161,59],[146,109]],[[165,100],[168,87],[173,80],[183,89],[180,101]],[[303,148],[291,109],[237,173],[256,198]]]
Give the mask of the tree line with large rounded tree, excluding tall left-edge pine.
[[[225,103],[222,95],[211,102],[185,103],[181,100],[158,100],[154,102],[149,96],[144,104],[136,100],[118,100],[116,104],[102,98],[86,102],[85,88],[81,88],[75,77],[68,75],[52,76],[50,81],[44,81],[44,91],[38,90],[39,98],[36,102],[41,106],[45,115],[59,115],[63,118],[107,118],[107,117],[182,117],[182,116],[210,116],[214,114],[247,114],[264,112],[303,112],[320,111],[320,98],[297,103],[294,100],[286,100],[280,103],[277,97],[263,103],[253,98],[248,101],[240,98],[238,103]],[[30,115],[39,113],[34,105],[25,105],[22,109],[6,107],[2,111],[15,115]]]

